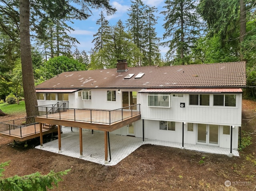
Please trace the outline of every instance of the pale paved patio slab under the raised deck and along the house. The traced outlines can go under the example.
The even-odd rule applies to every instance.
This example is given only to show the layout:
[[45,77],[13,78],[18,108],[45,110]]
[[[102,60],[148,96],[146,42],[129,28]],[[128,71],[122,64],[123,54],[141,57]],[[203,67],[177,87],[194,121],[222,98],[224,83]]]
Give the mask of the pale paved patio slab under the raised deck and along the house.
[[[70,127],[62,127],[61,134],[61,147],[63,154],[66,156],[80,158],[94,163],[102,165],[116,165],[122,159],[126,158],[137,148],[143,144],[152,144],[159,146],[168,146],[174,148],[182,148],[181,143],[158,141],[145,139],[142,142],[142,138],[131,137],[131,136],[121,136],[116,134],[109,134],[110,136],[110,152],[111,152],[111,161],[105,163],[105,152],[104,152],[104,133],[103,132],[94,132],[91,131],[82,131],[83,136],[83,156],[80,157],[80,147],[79,147],[79,132],[78,128],[73,128],[71,132]],[[43,148],[36,146],[37,149],[46,150],[49,152],[58,153],[58,139],[51,142],[43,144]],[[213,146],[204,146],[204,145],[194,145],[194,144],[184,144],[184,149],[195,150],[206,153],[214,154],[224,154],[229,155],[230,149],[213,147]],[[232,150],[234,156],[239,156],[237,150]],[[109,160],[109,155],[108,155]]]

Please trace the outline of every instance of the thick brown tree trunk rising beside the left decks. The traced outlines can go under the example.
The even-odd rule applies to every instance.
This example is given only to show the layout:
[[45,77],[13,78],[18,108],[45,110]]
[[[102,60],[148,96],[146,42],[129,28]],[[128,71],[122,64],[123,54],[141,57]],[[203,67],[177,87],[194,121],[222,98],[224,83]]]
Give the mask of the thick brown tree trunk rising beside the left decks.
[[19,0],[20,5],[20,56],[22,67],[22,81],[27,117],[38,114],[36,89],[32,67],[30,44],[30,7],[29,0]]

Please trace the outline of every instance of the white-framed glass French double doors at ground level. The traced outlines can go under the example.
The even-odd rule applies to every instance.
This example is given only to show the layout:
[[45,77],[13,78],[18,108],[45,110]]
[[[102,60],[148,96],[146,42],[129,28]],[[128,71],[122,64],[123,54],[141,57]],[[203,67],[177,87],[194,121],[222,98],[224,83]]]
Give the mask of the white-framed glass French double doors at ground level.
[[206,145],[219,145],[219,126],[198,124],[197,143]]

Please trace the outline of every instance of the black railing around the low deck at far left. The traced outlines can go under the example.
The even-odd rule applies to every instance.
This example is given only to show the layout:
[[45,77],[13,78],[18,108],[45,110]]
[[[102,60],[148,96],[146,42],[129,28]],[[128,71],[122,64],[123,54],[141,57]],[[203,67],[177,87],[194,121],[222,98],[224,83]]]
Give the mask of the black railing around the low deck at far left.
[[[0,122],[0,132],[13,136],[28,136],[38,133],[35,116]],[[26,132],[22,128],[26,127]]]

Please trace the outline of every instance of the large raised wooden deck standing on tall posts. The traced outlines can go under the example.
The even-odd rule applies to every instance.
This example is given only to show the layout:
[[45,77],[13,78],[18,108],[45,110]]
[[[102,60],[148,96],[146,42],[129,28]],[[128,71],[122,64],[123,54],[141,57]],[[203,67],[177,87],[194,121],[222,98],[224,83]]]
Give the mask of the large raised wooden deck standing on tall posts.
[[140,120],[140,112],[134,110],[76,110],[45,114],[35,117],[36,122],[73,126],[92,130],[114,131]]

